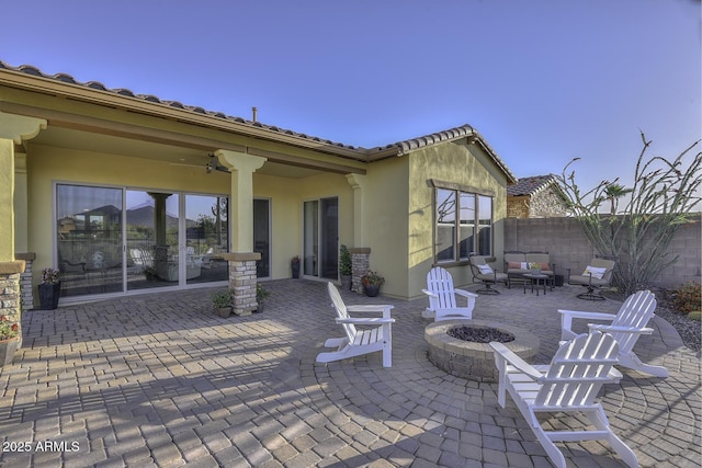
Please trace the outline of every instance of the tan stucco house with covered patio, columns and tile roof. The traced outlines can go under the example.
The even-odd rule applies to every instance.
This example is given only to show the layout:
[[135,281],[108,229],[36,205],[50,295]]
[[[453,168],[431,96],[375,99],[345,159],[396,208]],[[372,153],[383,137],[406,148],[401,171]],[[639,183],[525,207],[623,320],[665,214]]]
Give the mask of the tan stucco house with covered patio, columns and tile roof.
[[295,256],[338,281],[340,244],[385,295],[434,264],[467,284],[517,182],[469,125],[367,149],[3,62],[0,172],[0,275],[25,303],[54,266],[63,303],[229,284],[240,308]]

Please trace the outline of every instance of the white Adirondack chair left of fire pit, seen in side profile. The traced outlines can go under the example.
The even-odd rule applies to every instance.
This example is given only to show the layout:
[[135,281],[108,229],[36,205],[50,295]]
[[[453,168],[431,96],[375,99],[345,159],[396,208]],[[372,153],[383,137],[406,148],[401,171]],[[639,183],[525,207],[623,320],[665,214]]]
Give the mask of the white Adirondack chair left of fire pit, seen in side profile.
[[[317,355],[317,362],[330,363],[332,361],[346,359],[381,351],[383,352],[383,367],[390,367],[393,365],[393,338],[390,327],[395,321],[395,319],[390,318],[390,310],[395,306],[347,306],[343,304],[339,290],[333,284],[327,283],[327,289],[329,290],[332,306],[337,310],[337,323],[343,327],[347,335],[327,340],[325,347],[336,347],[337,351],[319,353]],[[349,316],[349,312],[382,312],[383,317],[353,318]],[[364,330],[360,330],[355,326],[372,327],[365,327]]]

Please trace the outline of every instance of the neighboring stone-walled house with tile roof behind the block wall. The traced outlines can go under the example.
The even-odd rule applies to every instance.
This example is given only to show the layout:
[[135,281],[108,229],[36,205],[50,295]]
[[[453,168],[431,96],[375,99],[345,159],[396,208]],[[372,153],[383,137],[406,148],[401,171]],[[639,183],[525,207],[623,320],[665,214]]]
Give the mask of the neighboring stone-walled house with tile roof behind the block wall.
[[558,218],[568,215],[566,197],[554,174],[519,178],[507,187],[508,218]]

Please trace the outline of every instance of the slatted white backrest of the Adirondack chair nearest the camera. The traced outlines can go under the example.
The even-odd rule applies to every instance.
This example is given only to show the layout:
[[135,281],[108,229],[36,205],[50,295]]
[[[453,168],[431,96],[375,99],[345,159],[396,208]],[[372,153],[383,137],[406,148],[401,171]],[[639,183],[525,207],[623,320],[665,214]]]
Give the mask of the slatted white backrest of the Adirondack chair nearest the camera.
[[619,346],[611,334],[599,331],[564,343],[554,355],[534,401],[537,406],[591,404],[616,362]]

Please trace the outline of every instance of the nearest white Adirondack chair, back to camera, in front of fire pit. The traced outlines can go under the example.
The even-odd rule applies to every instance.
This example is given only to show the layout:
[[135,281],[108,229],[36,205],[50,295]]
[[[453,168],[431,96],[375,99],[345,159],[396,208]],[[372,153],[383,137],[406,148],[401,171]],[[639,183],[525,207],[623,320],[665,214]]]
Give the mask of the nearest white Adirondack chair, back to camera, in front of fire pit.
[[[505,408],[509,392],[555,466],[565,468],[566,460],[554,442],[577,441],[608,441],[626,465],[638,466],[634,452],[612,432],[604,409],[595,402],[602,385],[613,381],[609,374],[619,346],[612,335],[580,334],[562,344],[547,366],[532,366],[501,343],[490,346],[500,373],[499,404]],[[584,414],[595,430],[584,424],[578,430],[548,431],[536,418],[558,412]]]

